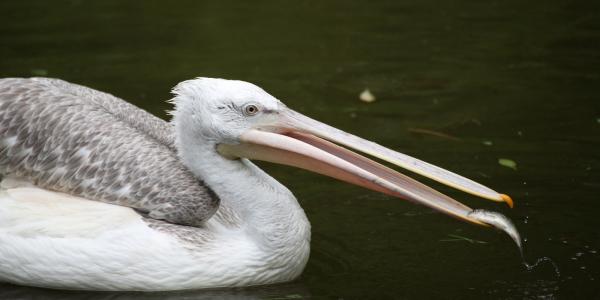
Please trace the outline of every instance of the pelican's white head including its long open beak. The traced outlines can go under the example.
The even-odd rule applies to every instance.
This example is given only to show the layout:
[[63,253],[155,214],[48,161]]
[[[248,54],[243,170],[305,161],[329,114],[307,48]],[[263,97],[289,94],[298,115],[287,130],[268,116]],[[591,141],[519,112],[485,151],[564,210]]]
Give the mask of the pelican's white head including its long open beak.
[[[357,152],[497,202],[504,194],[448,170],[304,116],[244,81],[197,78],[173,90],[179,126],[212,141],[228,159],[248,158],[303,168],[428,206],[478,224],[473,209]],[[186,116],[183,118],[182,116]]]

